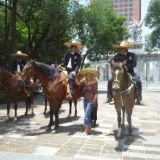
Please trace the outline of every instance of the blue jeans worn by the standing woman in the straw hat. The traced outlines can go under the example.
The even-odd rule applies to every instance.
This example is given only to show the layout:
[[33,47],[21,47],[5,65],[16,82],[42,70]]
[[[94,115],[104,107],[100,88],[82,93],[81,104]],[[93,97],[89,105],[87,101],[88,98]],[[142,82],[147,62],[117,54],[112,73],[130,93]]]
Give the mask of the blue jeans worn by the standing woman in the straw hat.
[[88,127],[91,125],[91,114],[93,111],[93,106],[91,101],[84,99],[83,101],[84,106],[84,127]]

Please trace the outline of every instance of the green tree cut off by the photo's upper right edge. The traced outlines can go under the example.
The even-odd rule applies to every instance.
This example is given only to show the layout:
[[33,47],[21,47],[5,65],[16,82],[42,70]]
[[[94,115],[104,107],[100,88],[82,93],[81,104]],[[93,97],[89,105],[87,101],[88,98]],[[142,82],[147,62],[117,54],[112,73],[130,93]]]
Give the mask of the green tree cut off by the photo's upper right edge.
[[151,47],[160,48],[160,1],[151,0],[145,17],[145,25],[153,31],[150,35]]

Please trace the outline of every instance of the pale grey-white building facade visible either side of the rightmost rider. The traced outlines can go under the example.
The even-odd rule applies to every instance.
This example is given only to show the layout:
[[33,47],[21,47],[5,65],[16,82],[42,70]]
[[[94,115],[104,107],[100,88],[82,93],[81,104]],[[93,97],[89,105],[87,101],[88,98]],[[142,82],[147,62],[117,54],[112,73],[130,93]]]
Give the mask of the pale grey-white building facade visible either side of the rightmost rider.
[[[144,87],[160,85],[160,54],[145,52],[137,54],[137,66],[135,73],[140,77]],[[100,72],[99,82],[107,86],[107,81],[111,78],[110,61],[113,56],[109,56],[108,60],[100,62],[92,62],[91,67]]]

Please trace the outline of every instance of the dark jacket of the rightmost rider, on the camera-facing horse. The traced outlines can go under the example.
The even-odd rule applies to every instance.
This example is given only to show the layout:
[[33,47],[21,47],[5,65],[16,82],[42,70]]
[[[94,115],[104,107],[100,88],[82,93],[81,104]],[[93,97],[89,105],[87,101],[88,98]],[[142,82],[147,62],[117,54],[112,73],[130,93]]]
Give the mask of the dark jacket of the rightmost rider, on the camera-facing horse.
[[134,74],[134,67],[137,65],[137,57],[135,53],[127,52],[126,55],[117,54],[113,58],[115,62],[124,62],[126,61],[126,66],[130,74]]

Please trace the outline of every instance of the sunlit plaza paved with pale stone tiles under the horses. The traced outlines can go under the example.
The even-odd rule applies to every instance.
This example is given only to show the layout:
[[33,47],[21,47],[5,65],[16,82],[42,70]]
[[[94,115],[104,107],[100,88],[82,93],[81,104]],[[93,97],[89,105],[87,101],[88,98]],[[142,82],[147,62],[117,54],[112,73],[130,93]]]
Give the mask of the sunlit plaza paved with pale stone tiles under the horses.
[[[92,135],[84,135],[83,101],[78,102],[78,116],[68,117],[68,103],[60,109],[60,128],[47,133],[49,115],[44,116],[44,99],[36,97],[35,116],[24,116],[19,103],[18,122],[5,120],[5,105],[0,106],[0,160],[160,160],[160,92],[143,92],[145,106],[135,106],[133,135],[117,139],[117,115],[114,105],[103,104],[106,94],[99,94],[97,126]],[[13,109],[11,116],[13,116]],[[127,125],[125,127],[127,131]]]

